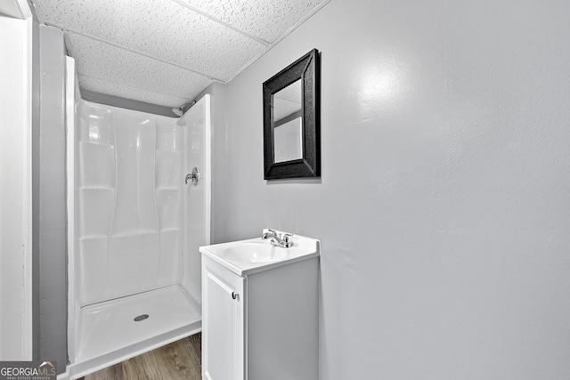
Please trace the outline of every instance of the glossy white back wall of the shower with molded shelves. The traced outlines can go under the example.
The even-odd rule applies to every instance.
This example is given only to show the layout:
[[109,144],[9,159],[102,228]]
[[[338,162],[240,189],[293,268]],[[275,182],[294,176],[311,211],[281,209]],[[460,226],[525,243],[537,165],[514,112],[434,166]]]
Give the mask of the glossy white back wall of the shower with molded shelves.
[[180,127],[88,101],[80,119],[81,305],[180,283]]

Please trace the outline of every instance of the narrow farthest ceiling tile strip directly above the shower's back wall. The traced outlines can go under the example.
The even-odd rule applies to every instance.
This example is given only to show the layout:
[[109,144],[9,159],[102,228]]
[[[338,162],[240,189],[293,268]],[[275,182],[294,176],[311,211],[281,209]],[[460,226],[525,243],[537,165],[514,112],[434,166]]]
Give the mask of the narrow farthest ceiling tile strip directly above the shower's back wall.
[[149,90],[142,90],[128,85],[120,85],[118,83],[96,77],[87,77],[81,74],[77,77],[79,77],[79,85],[81,88],[97,93],[107,93],[109,95],[120,96],[121,98],[131,99],[134,101],[146,101],[147,103],[172,108],[178,107],[187,101],[186,99],[179,98],[177,96],[167,95],[164,93],[154,93]]

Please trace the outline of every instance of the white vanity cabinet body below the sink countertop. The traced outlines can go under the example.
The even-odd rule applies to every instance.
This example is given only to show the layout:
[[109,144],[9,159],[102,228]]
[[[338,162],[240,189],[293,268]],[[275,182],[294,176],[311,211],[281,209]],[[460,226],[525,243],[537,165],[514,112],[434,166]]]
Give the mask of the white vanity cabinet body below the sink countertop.
[[231,268],[202,255],[203,378],[317,380],[318,255]]

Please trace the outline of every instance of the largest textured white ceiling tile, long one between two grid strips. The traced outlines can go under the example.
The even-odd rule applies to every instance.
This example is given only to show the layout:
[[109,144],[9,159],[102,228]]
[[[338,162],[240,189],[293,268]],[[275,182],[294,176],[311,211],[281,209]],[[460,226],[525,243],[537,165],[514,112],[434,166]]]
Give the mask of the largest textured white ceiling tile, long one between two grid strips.
[[228,80],[264,44],[172,0],[35,0],[39,20]]

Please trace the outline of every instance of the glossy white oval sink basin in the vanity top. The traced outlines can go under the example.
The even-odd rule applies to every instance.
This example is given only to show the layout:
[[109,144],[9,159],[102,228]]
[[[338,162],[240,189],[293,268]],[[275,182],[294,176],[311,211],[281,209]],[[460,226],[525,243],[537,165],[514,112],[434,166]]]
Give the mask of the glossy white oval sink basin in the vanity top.
[[289,251],[268,241],[256,241],[234,244],[220,251],[220,255],[241,263],[273,263],[287,258]]

